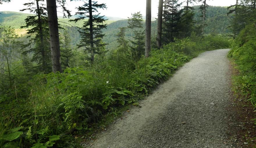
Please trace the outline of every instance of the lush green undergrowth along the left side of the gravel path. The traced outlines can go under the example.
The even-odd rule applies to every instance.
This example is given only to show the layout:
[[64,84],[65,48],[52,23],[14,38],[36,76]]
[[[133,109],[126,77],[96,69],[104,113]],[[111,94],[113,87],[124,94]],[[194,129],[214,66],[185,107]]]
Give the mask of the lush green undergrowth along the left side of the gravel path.
[[198,53],[228,47],[223,36],[192,36],[139,61],[113,54],[92,66],[34,75],[0,96],[0,147],[79,147],[70,133],[104,128]]

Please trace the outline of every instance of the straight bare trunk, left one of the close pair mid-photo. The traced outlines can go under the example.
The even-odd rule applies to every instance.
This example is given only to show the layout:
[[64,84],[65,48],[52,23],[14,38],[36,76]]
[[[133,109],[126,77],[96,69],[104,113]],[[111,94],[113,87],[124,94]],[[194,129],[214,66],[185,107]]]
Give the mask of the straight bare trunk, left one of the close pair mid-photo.
[[149,57],[151,51],[151,0],[146,4],[146,40],[145,40],[145,57]]

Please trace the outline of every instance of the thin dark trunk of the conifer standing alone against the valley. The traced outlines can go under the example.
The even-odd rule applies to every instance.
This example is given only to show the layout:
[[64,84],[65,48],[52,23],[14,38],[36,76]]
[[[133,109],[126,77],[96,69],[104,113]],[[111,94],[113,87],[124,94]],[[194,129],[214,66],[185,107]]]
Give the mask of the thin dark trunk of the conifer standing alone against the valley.
[[93,47],[93,10],[92,0],[89,0],[89,23],[90,23],[90,44],[91,44],[91,62],[94,61],[94,47]]

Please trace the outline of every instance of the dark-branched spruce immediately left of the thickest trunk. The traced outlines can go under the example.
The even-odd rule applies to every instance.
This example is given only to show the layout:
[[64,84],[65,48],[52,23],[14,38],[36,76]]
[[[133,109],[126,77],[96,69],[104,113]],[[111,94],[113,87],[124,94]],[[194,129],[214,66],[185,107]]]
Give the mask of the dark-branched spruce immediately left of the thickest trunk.
[[30,38],[30,42],[24,47],[29,47],[28,51],[33,53],[33,62],[37,62],[37,69],[44,73],[51,72],[51,51],[49,44],[49,28],[48,28],[48,18],[47,18],[47,8],[44,7],[44,0],[31,0],[29,3],[24,3],[23,5],[28,7],[20,11],[29,10],[34,13],[34,16],[28,16],[25,19],[26,25],[21,28],[31,28],[27,29]]

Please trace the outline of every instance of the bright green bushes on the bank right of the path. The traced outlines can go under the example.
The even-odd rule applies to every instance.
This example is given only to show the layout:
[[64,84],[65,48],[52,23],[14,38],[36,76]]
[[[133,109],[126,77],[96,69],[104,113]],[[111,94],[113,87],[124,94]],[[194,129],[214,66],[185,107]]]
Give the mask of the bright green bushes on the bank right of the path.
[[[228,56],[239,71],[233,78],[234,93],[237,98],[249,101],[256,112],[256,26],[247,25],[232,43]],[[250,119],[256,125],[256,119]],[[248,131],[250,132],[250,131]]]

